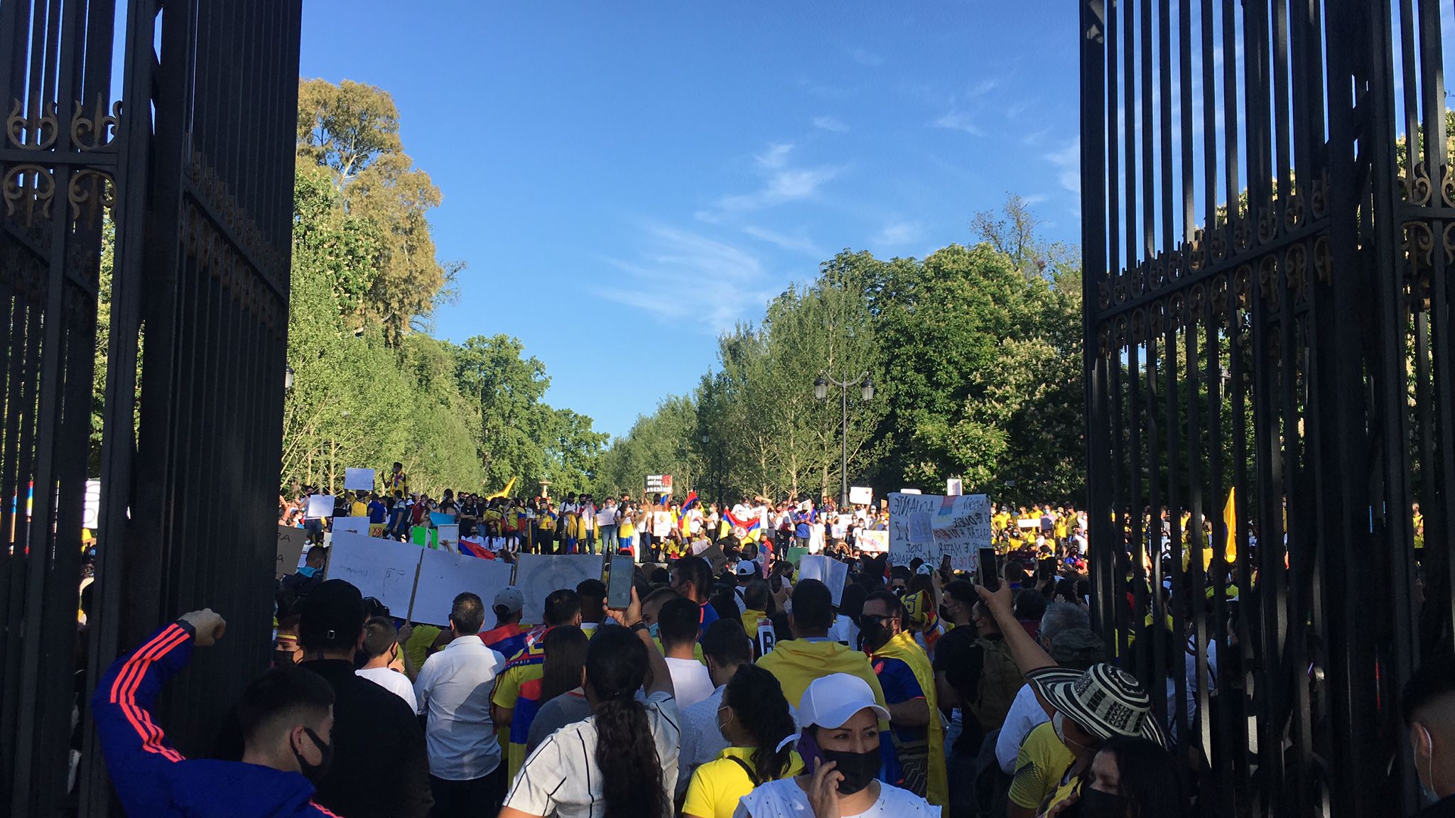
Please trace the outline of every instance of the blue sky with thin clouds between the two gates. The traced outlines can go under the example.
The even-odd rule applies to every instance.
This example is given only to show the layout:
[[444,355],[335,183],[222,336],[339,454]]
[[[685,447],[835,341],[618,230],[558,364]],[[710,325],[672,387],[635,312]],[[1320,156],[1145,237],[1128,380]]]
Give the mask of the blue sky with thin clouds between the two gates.
[[[1078,240],[1067,3],[304,3],[304,77],[388,90],[444,191],[435,316],[626,434],[844,247],[969,242],[1007,192]],[[805,387],[813,374],[805,374]]]

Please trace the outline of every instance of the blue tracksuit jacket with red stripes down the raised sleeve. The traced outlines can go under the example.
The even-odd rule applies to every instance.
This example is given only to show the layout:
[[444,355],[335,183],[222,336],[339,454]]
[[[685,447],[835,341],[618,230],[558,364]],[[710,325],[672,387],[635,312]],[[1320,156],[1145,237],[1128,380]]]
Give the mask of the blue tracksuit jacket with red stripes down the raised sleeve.
[[106,770],[127,815],[332,817],[310,801],[313,785],[298,773],[191,760],[172,748],[151,709],[166,680],[192,656],[192,636],[185,622],[163,627],[116,659],[92,694]]

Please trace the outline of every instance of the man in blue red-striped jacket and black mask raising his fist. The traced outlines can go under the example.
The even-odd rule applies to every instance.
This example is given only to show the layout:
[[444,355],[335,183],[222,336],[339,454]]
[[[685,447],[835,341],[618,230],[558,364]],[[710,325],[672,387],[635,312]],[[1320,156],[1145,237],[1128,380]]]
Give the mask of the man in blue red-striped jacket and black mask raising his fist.
[[116,796],[128,815],[313,817],[333,755],[333,690],[317,675],[275,668],[253,680],[237,704],[242,761],[185,758],[157,725],[153,707],[192,648],[223,638],[211,608],[183,614],[112,662],[92,696],[92,716]]

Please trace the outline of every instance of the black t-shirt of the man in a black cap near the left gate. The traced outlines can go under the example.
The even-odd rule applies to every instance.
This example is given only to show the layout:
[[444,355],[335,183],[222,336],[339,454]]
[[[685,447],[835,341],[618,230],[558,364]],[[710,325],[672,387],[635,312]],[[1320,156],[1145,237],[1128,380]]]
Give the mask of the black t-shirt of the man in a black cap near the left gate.
[[354,674],[342,659],[298,665],[333,688],[333,764],[314,799],[349,818],[425,818],[429,757],[425,731],[394,693]]

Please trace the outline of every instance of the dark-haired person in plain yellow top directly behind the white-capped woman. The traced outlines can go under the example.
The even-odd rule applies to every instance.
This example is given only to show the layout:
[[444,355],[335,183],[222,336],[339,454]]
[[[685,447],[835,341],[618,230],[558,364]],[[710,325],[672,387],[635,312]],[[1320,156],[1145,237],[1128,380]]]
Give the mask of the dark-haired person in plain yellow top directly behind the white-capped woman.
[[815,678],[847,672],[867,681],[874,691],[874,702],[883,707],[885,691],[879,687],[869,656],[828,638],[828,629],[834,623],[834,598],[828,585],[818,579],[799,582],[793,589],[792,604],[789,629],[793,639],[778,642],[758,659],[758,667],[778,678],[789,704],[797,707],[803,691]]

